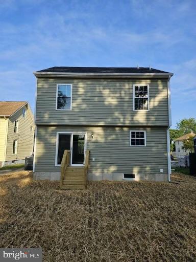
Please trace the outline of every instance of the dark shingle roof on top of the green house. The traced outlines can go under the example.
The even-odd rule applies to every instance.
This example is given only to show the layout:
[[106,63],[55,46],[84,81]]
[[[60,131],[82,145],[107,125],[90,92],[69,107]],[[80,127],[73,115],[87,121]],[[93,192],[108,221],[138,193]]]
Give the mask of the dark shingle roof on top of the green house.
[[170,74],[169,72],[151,68],[95,68],[95,67],[53,67],[43,69],[37,72],[50,73],[114,73],[114,74]]

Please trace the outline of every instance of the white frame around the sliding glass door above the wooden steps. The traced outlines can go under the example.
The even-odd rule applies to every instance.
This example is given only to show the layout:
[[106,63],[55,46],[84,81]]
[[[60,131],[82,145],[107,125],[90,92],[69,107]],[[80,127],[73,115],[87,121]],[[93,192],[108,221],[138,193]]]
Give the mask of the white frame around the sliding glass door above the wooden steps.
[[[86,153],[86,148],[87,148],[87,133],[86,132],[57,132],[57,136],[56,136],[56,151],[55,151],[55,166],[59,167],[61,166],[61,164],[58,164],[58,147],[59,147],[59,135],[61,134],[70,134],[71,135],[71,139],[70,139],[70,149],[72,146],[72,137],[73,135],[85,135],[85,139],[84,139],[84,161],[85,161],[85,153]],[[72,150],[71,150],[71,156],[70,156],[70,165],[71,166],[84,166],[84,165],[72,165]]]

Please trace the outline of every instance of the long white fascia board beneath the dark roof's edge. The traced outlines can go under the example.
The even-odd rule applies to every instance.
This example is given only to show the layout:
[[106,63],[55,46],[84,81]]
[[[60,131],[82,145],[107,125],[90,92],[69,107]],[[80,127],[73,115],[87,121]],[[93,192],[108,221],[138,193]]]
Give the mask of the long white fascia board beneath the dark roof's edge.
[[36,77],[102,77],[102,78],[168,78],[173,76],[171,73],[57,73],[57,72],[34,72]]

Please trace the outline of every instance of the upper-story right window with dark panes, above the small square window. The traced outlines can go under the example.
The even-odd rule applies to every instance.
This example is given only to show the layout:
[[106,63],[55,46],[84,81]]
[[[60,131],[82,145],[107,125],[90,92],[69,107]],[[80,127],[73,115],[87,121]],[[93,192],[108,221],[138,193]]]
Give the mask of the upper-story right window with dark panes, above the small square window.
[[149,85],[134,85],[134,110],[149,110]]

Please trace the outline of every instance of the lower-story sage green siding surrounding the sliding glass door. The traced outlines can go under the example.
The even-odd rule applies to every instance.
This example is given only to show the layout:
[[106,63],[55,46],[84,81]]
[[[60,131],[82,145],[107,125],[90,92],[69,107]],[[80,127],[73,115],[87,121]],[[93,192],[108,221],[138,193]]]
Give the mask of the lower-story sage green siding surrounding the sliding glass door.
[[[130,130],[145,130],[146,146],[131,147]],[[90,173],[153,174],[163,168],[167,174],[165,127],[37,126],[35,171],[60,171],[60,167],[55,166],[57,132],[87,133]]]

